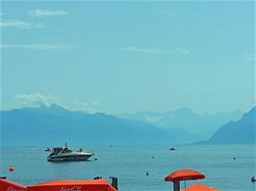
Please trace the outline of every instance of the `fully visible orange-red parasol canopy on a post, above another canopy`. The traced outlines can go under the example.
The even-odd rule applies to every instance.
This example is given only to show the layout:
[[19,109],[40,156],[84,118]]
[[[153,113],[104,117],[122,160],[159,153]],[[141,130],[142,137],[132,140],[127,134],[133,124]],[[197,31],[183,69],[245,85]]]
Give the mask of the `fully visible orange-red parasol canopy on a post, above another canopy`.
[[190,180],[190,179],[205,179],[205,176],[197,171],[190,169],[181,169],[174,171],[169,174],[165,181],[181,181],[181,180]]

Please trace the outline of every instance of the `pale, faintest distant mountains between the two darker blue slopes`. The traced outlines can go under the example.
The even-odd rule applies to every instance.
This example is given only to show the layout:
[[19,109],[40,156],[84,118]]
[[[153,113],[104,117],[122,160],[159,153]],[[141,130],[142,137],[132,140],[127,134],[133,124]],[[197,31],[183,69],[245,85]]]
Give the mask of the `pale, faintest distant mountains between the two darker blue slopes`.
[[185,107],[166,112],[141,111],[132,114],[123,114],[121,117],[141,120],[168,131],[175,129],[184,130],[192,133],[192,136],[197,139],[207,139],[220,126],[229,121],[238,120],[242,114],[240,110],[215,114],[209,114],[207,112],[195,113],[191,108]]

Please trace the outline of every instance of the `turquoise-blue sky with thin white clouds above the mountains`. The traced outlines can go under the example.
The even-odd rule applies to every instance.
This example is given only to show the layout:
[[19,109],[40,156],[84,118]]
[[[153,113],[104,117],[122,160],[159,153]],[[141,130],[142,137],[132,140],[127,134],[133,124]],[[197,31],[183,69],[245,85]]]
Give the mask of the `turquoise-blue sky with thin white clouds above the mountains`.
[[255,105],[254,2],[2,2],[1,108]]

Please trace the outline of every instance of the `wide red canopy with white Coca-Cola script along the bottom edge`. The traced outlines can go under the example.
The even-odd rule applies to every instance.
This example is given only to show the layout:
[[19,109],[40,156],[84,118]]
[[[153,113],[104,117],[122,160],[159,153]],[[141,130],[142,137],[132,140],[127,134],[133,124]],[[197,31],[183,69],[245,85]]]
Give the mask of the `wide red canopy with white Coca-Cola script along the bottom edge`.
[[28,186],[26,191],[116,191],[106,179],[56,180]]

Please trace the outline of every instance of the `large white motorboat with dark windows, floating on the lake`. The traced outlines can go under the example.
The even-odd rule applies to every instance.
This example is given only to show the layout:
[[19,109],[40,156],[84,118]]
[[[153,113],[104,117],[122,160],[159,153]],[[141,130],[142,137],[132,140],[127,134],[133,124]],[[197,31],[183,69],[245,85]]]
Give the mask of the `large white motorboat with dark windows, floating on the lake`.
[[48,155],[48,161],[80,161],[88,160],[93,154],[86,153],[82,149],[78,151],[72,151],[67,148],[66,144],[64,147],[55,147],[52,149],[52,153]]

